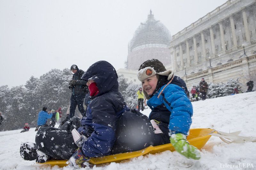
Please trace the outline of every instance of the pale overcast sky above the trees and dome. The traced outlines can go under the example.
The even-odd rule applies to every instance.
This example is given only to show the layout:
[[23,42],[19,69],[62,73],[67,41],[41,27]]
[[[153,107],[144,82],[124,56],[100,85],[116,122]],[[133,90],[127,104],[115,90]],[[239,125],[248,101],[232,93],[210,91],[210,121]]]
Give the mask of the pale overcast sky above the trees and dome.
[[0,0],[0,86],[51,69],[86,71],[99,60],[124,68],[128,42],[149,10],[171,35],[226,0]]

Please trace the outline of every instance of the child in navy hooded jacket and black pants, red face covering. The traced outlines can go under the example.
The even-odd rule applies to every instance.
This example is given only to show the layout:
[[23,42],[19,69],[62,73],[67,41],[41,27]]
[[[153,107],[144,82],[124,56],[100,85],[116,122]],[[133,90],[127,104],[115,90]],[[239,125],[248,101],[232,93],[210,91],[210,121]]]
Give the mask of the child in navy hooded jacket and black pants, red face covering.
[[[74,117],[60,129],[41,127],[36,134],[36,144],[21,144],[20,155],[23,159],[39,163],[52,158],[69,159],[70,164],[81,167],[90,157],[112,154],[118,116],[129,110],[118,92],[116,70],[110,63],[99,61],[89,67],[82,79],[87,81],[93,99],[88,105],[86,117],[81,122]],[[74,128],[88,138],[81,147],[75,144],[70,132]]]

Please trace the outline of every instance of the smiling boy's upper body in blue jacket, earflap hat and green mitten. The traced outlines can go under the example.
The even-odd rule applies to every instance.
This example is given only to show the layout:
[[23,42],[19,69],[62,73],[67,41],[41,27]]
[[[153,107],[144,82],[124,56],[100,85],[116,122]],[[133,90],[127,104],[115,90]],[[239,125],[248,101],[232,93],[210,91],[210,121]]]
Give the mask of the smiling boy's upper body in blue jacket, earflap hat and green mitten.
[[186,139],[193,115],[192,104],[186,95],[186,83],[156,59],[142,63],[137,76],[148,99],[147,105],[152,110],[149,119],[155,120],[163,132],[155,135],[154,145],[171,141],[180,154],[200,159],[199,150]]

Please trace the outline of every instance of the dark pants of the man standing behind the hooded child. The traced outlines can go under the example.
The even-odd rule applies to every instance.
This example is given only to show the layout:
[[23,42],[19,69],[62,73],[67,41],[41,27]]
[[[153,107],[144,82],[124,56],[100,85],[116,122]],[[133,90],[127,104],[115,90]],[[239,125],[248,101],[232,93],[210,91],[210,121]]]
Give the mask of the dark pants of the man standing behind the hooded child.
[[75,115],[76,106],[78,107],[79,112],[82,114],[83,117],[86,116],[86,112],[84,110],[84,97],[85,94],[75,94],[71,95],[70,98],[70,108],[69,108],[69,119],[72,119]]

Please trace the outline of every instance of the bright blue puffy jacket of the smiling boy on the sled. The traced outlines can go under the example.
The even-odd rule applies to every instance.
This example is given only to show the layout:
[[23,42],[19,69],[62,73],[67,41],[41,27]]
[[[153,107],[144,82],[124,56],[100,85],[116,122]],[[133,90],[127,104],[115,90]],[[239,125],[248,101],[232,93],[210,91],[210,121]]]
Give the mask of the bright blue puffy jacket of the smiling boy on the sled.
[[152,110],[149,119],[158,119],[157,121],[164,122],[165,124],[169,123],[169,135],[173,133],[188,135],[192,123],[192,104],[185,91],[175,84],[167,85],[158,99],[157,96],[164,86],[147,101],[148,106]]

